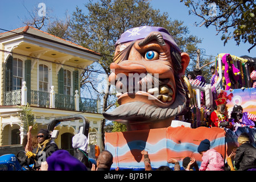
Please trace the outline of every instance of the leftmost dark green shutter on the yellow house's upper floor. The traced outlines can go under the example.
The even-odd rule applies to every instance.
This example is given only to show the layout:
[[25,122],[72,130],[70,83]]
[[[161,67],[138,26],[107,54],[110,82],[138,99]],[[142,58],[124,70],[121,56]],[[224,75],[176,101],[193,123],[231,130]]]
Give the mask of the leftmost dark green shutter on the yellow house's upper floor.
[[6,62],[5,69],[5,91],[13,90],[13,56],[9,56]]

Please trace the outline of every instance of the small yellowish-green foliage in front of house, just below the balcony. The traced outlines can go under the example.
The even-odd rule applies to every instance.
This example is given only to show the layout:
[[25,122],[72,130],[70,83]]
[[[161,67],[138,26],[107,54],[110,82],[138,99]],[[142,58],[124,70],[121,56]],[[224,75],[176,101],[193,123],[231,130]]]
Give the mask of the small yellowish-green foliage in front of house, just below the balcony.
[[34,111],[30,109],[30,106],[19,106],[19,109],[20,125],[23,129],[28,131],[30,126],[32,126],[32,129],[36,129],[38,123],[35,121],[35,114]]

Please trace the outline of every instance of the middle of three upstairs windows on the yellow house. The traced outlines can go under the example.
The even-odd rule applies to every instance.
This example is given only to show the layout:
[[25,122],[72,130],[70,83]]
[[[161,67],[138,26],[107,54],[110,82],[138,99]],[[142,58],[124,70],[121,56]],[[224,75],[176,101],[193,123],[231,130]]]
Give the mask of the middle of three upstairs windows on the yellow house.
[[49,68],[47,65],[39,64],[39,91],[48,92]]

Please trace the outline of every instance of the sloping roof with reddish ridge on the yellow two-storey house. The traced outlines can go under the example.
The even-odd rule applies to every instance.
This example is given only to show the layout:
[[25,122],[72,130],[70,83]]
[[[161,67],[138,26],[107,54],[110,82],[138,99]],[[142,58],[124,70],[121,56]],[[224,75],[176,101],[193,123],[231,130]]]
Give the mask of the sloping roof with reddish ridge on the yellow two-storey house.
[[61,38],[59,38],[55,35],[48,34],[47,32],[44,32],[42,30],[38,30],[38,29],[36,29],[34,27],[31,27],[31,26],[20,27],[20,28],[16,28],[15,30],[3,32],[3,33],[0,34],[0,40],[4,39],[4,38],[7,38],[7,37],[10,37],[10,36],[15,36],[15,35],[25,35],[25,36],[30,36],[32,38],[47,40],[48,42],[62,44],[63,46],[72,47],[72,48],[75,48],[75,49],[79,49],[80,51],[85,51],[85,52],[92,53],[92,54],[97,55],[97,56],[102,56],[100,53],[97,53],[97,52],[92,51],[88,48],[79,46],[78,44],[69,42],[68,40],[61,39]]

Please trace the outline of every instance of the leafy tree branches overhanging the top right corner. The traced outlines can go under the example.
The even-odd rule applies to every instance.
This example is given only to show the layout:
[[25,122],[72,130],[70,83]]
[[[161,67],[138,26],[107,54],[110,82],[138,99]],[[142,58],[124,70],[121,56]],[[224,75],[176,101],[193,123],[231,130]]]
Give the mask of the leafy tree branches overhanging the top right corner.
[[256,46],[256,5],[255,0],[181,0],[190,7],[189,14],[199,16],[202,21],[197,26],[216,27],[217,34],[222,32],[224,46],[230,39],[239,45],[248,42],[250,50]]

